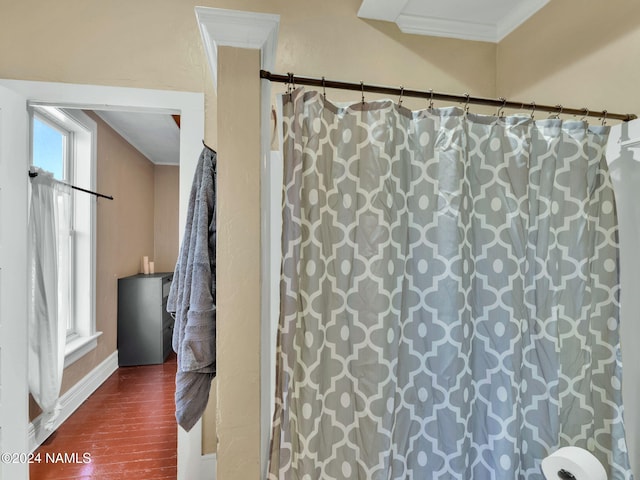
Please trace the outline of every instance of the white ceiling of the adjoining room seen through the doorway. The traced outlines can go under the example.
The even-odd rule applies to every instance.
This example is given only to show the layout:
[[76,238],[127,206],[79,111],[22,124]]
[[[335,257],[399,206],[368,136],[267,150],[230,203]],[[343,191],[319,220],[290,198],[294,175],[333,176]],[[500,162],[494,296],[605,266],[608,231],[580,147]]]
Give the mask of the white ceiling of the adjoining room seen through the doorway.
[[180,163],[180,129],[171,115],[112,110],[96,114],[156,165]]

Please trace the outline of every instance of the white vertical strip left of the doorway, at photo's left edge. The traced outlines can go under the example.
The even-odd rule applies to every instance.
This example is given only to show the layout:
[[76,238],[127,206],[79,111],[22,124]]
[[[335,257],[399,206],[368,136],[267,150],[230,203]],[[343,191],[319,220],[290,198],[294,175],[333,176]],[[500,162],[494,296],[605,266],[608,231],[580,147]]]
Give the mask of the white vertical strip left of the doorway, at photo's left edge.
[[26,99],[0,86],[0,478],[6,480],[29,476],[28,125]]

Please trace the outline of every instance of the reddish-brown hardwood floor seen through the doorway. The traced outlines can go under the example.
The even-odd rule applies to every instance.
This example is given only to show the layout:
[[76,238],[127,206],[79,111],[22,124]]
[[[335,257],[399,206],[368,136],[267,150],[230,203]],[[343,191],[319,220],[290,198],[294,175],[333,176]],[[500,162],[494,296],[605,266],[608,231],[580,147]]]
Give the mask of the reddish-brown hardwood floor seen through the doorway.
[[30,480],[175,480],[175,373],[173,353],[119,368],[34,452]]

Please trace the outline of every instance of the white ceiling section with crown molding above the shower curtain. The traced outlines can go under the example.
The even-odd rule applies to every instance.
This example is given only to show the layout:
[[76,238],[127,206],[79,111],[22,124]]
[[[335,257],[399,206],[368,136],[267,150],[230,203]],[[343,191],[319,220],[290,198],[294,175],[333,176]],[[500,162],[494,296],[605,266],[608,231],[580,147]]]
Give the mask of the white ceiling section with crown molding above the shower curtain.
[[404,33],[497,43],[549,0],[363,0],[358,17]]

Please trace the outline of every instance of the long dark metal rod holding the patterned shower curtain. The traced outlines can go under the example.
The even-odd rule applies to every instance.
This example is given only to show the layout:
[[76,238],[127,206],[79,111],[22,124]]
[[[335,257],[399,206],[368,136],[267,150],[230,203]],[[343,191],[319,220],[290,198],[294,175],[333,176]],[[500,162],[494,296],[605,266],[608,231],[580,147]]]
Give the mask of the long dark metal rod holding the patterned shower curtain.
[[638,118],[637,115],[633,113],[609,113],[606,110],[603,111],[590,111],[588,108],[565,108],[562,105],[538,105],[535,102],[524,103],[524,102],[513,102],[508,101],[505,98],[482,98],[482,97],[472,97],[470,95],[453,95],[450,93],[438,93],[432,90],[423,91],[423,90],[411,90],[404,87],[395,88],[395,87],[386,87],[381,85],[367,85],[365,83],[350,83],[350,82],[342,82],[336,80],[325,80],[325,78],[311,78],[311,77],[300,77],[294,75],[293,73],[288,73],[287,75],[271,73],[267,70],[260,70],[260,78],[264,78],[271,82],[279,82],[279,83],[288,83],[291,85],[308,85],[313,87],[322,87],[322,88],[337,88],[340,90],[354,90],[358,92],[371,92],[371,93],[382,93],[386,95],[399,95],[400,97],[417,97],[417,98],[426,98],[431,100],[444,100],[448,102],[461,102],[464,104],[473,103],[476,105],[488,105],[492,107],[499,107],[501,110],[504,108],[515,109],[515,110],[524,110],[530,109],[533,112],[536,110],[542,110],[544,112],[555,113],[556,115],[560,114],[568,114],[568,115],[581,115],[583,117],[598,117],[602,118],[602,122],[606,119],[612,120],[622,120],[624,122],[628,122],[630,120],[635,120]]

